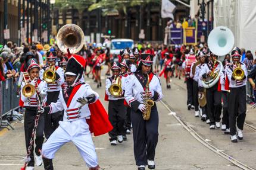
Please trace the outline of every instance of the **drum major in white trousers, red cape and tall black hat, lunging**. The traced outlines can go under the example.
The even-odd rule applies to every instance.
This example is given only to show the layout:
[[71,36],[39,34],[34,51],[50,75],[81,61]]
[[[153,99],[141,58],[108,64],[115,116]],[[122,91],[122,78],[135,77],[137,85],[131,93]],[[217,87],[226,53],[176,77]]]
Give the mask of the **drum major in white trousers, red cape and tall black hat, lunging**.
[[42,147],[43,163],[47,170],[54,169],[52,159],[55,152],[70,141],[76,145],[90,170],[99,169],[90,132],[97,136],[107,133],[112,127],[104,107],[98,100],[98,94],[88,84],[79,81],[84,68],[85,59],[72,54],[65,72],[68,88],[59,94],[57,102],[51,102],[50,105],[39,110],[43,114],[55,114],[62,110],[65,113],[60,126]]

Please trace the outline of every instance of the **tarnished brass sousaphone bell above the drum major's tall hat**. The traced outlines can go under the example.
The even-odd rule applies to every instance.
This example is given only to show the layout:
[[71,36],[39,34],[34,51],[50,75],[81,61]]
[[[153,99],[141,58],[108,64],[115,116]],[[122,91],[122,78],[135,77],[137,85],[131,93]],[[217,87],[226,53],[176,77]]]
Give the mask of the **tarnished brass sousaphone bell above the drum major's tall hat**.
[[79,52],[85,44],[85,34],[76,24],[66,24],[60,28],[57,34],[57,45],[59,49],[67,54],[67,49],[71,54]]

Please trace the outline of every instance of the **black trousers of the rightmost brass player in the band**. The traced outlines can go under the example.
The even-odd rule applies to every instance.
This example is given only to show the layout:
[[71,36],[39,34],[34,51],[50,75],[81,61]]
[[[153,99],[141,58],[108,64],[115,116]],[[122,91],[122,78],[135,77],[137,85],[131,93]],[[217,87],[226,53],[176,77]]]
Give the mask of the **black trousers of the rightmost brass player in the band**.
[[236,124],[243,130],[246,117],[246,87],[230,88],[229,94],[229,127],[230,135],[236,134]]

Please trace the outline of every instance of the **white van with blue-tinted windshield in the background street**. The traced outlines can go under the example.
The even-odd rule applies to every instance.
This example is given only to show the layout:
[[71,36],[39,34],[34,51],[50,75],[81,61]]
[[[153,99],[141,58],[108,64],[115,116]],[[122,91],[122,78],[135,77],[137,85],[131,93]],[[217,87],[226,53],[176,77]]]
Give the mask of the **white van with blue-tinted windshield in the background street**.
[[118,55],[120,50],[126,49],[133,49],[134,41],[132,39],[113,39],[111,40],[110,45],[110,53]]

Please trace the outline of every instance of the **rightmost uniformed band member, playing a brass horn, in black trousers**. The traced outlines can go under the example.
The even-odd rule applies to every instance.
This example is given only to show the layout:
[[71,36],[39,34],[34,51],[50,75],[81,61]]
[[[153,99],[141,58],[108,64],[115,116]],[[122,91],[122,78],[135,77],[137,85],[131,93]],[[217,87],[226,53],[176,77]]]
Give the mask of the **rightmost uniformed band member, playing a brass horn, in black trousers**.
[[[245,64],[240,62],[241,56],[241,50],[235,47],[231,52],[232,63],[226,68],[228,78],[228,81],[226,79],[226,85],[230,89],[228,112],[231,142],[238,142],[238,139],[243,139],[242,130],[246,117],[246,81],[248,73]],[[240,68],[244,72],[241,80],[234,77],[233,72],[236,68]]]

